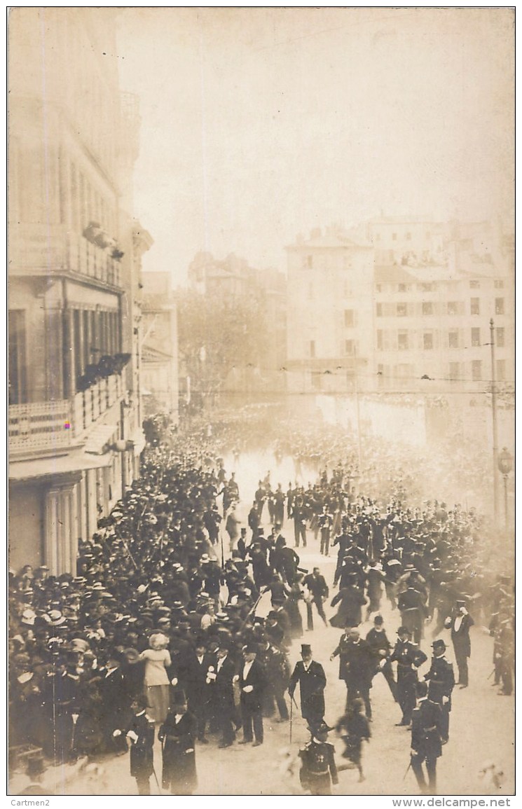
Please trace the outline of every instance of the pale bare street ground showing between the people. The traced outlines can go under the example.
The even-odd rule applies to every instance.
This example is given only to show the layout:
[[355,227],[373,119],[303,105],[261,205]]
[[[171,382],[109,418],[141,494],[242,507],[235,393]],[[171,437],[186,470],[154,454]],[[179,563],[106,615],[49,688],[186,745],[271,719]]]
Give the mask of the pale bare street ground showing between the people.
[[[270,455],[244,455],[236,467],[230,458],[225,459],[228,472],[236,468],[236,479],[240,486],[241,502],[238,509],[240,519],[246,519],[248,507],[259,477],[270,470],[271,481],[283,487],[289,480],[295,480],[295,468],[291,459],[283,459],[275,464]],[[311,468],[301,470],[303,480],[314,480]],[[265,512],[265,518],[268,516]],[[265,523],[269,529],[269,524]],[[286,521],[283,536],[287,544],[293,545],[293,524]],[[335,550],[335,549],[334,549]],[[227,543],[225,543],[227,556]],[[308,532],[308,547],[299,549],[300,565],[308,570],[317,565],[325,575],[330,587],[326,615],[331,617],[335,610],[329,608],[329,601],[337,590],[333,590],[335,555],[321,557],[319,540]],[[315,608],[314,608],[315,610]],[[301,603],[301,612],[305,610]],[[392,612],[386,599],[382,602],[384,626],[391,642],[395,642],[399,615]],[[343,713],[346,688],[337,679],[338,660],[329,661],[329,656],[337,646],[341,630],[325,628],[314,612],[315,629],[306,632],[303,642],[312,645],[314,659],[325,667],[327,687],[325,691],[325,720],[335,725]],[[304,620],[306,627],[306,619]],[[365,637],[372,622],[361,625],[361,635]],[[479,777],[480,769],[487,763],[494,763],[503,770],[502,789],[495,794],[512,794],[514,791],[514,699],[500,697],[499,688],[493,686],[492,654],[493,641],[486,628],[476,621],[471,630],[472,654],[469,663],[469,688],[455,688],[450,719],[450,738],[443,747],[443,756],[438,763],[439,794],[487,794],[490,790]],[[454,662],[449,631],[440,636],[448,644],[447,656]],[[420,676],[427,671],[431,655],[431,628],[428,625],[422,649],[428,655],[428,662],[420,669]],[[291,665],[299,659],[300,642],[296,640],[290,653]],[[299,688],[295,697],[299,705]],[[383,677],[376,676],[371,688],[373,722],[371,740],[363,748],[363,768],[366,781],[358,782],[356,770],[339,773],[339,784],[333,787],[333,794],[417,794],[418,788],[410,762],[410,731],[396,727],[401,718],[400,710],[391,697]],[[290,702],[289,702],[290,705]],[[198,788],[196,794],[303,794],[299,785],[299,760],[296,754],[299,747],[308,741],[306,725],[299,713],[293,709],[292,728],[290,722],[279,723],[265,719],[265,743],[260,748],[251,745],[234,744],[231,748],[219,750],[216,736],[210,737],[208,745],[198,745],[196,752]],[[290,734],[292,738],[290,740]],[[238,739],[240,734],[238,734]],[[329,735],[335,743],[337,765],[342,763],[342,739],[335,731]],[[55,794],[136,794],[135,781],[129,776],[128,756],[104,758],[95,764],[81,767],[81,763],[66,768],[49,769],[45,773],[42,786]],[[161,781],[161,750],[155,742],[155,772]],[[16,777],[12,783],[13,792],[23,790],[28,778]],[[158,794],[158,786],[151,778],[151,793]]]

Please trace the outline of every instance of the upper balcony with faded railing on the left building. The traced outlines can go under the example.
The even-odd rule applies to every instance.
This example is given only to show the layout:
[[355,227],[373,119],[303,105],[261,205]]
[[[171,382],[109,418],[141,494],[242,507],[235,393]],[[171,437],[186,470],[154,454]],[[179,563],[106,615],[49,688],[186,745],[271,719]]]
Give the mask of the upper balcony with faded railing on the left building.
[[13,225],[10,265],[14,272],[73,272],[111,286],[121,284],[121,263],[108,248],[100,248],[62,226]]

